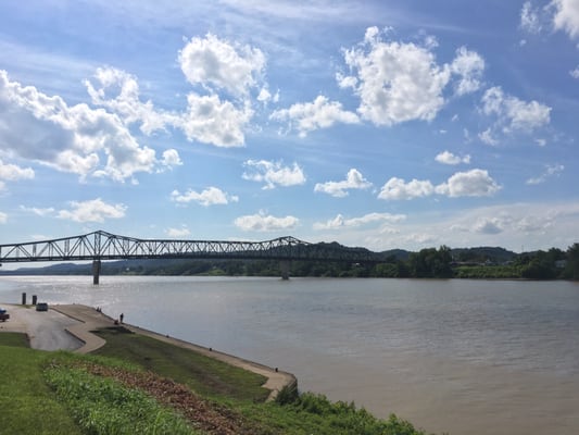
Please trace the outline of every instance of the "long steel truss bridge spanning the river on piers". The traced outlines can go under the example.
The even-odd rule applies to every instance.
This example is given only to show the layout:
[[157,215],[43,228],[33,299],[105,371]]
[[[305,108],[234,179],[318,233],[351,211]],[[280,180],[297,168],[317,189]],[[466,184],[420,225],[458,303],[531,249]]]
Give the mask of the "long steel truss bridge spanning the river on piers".
[[265,241],[140,239],[97,231],[51,240],[0,245],[0,264],[38,261],[92,261],[93,283],[99,283],[102,260],[229,259],[279,260],[282,277],[291,260],[380,262],[375,252],[336,244],[310,244],[294,237]]

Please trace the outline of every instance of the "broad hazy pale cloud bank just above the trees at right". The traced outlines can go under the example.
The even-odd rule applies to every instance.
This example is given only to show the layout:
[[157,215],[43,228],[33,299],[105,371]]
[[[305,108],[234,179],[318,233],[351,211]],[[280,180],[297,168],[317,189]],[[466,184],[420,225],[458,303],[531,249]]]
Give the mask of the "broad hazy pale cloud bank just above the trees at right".
[[368,249],[381,251],[393,248],[419,250],[444,244],[450,247],[501,246],[519,251],[559,247],[571,244],[576,234],[579,202],[505,202],[474,209],[423,211],[392,227],[343,227],[333,234],[336,240],[348,246],[364,243]]

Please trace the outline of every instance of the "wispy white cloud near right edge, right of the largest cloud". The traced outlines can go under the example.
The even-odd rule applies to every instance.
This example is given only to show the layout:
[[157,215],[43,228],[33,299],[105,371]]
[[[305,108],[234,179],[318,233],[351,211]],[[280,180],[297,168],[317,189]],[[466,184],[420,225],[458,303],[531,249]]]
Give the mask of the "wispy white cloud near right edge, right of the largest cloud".
[[479,135],[481,140],[491,145],[496,144],[493,136],[498,130],[504,134],[515,132],[528,134],[551,122],[549,105],[505,95],[499,86],[487,89],[482,96],[482,112],[496,119],[490,128]]

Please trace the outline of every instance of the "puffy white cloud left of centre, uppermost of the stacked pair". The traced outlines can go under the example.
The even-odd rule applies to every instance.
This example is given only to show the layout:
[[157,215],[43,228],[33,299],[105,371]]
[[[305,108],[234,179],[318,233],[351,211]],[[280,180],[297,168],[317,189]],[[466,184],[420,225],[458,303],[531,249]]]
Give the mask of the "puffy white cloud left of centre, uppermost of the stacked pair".
[[246,97],[265,67],[260,49],[234,45],[212,34],[191,38],[178,60],[190,84],[224,89],[235,97]]

